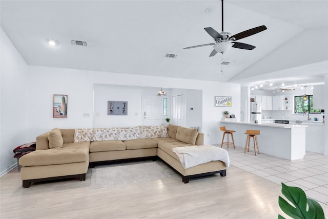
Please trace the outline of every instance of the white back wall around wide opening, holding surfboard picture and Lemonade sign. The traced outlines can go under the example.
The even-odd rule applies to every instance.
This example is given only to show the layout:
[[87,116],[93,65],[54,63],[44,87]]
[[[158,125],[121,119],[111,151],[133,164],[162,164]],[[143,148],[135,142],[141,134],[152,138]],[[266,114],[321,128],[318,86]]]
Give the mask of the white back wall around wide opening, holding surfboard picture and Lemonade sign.
[[[170,87],[202,90],[202,132],[206,144],[219,142],[218,126],[227,108],[214,107],[214,96],[232,96],[233,105],[229,111],[240,114],[240,85],[232,83],[197,81],[182,78],[131,75],[111,72],[97,72],[76,69],[29,66],[29,95],[36,98],[34,108],[28,109],[30,127],[27,134],[35,137],[51,128],[87,128],[93,126],[94,84]],[[68,118],[52,117],[53,94],[68,95]],[[34,109],[38,109],[36,114]],[[90,117],[83,113],[90,112]],[[117,121],[116,121],[117,122]],[[115,123],[116,123],[115,122]]]

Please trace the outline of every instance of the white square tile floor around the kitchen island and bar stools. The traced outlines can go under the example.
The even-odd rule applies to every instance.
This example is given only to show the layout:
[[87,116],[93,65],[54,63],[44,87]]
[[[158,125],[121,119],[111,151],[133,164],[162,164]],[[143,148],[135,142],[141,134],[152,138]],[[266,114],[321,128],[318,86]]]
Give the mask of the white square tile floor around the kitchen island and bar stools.
[[241,147],[230,146],[228,152],[231,165],[279,185],[302,188],[306,196],[328,205],[327,155],[306,151],[303,159],[289,161],[264,153],[255,156],[254,149],[244,154]]

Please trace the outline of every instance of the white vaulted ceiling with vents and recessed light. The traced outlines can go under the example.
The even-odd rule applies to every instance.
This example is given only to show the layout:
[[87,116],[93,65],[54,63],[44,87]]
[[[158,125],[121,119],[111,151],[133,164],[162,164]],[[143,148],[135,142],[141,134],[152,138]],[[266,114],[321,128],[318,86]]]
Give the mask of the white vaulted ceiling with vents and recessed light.
[[[221,31],[217,1],[2,1],[1,27],[29,65],[236,82],[322,83],[328,73],[328,0],[224,1],[224,31],[268,30],[209,57],[204,27]],[[47,45],[54,38],[56,47]],[[71,40],[86,41],[87,47]],[[166,58],[167,53],[177,58]],[[222,66],[221,61],[232,64]]]

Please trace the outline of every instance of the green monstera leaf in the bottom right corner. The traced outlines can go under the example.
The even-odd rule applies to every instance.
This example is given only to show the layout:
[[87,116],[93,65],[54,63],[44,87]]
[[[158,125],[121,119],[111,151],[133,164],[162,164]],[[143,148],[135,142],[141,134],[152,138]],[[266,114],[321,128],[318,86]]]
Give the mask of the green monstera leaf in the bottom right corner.
[[[283,212],[294,219],[323,219],[324,213],[319,203],[311,198],[307,198],[305,192],[298,187],[290,187],[281,183],[281,192],[294,205],[291,205],[279,196],[279,207]],[[278,219],[284,217],[280,214]]]

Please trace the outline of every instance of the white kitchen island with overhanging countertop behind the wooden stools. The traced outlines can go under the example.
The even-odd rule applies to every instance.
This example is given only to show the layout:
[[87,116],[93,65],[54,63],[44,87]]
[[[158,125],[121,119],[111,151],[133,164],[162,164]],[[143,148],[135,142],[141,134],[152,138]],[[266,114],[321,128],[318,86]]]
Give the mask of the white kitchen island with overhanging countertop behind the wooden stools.
[[290,161],[302,159],[305,155],[305,128],[308,126],[225,121],[221,121],[220,126],[226,126],[228,130],[236,131],[234,140],[235,145],[239,147],[245,146],[247,137],[244,134],[245,131],[253,129],[260,130],[260,135],[257,136],[260,153],[285,158]]

